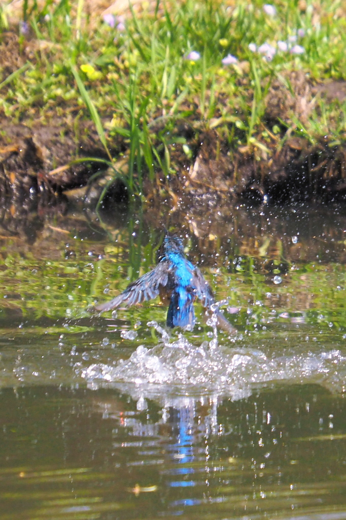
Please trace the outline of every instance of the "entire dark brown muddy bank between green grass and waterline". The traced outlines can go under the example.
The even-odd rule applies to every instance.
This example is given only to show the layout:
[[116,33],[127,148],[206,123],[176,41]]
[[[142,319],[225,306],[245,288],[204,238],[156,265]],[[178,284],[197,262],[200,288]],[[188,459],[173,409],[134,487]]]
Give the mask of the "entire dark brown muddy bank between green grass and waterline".
[[[91,122],[81,124],[84,138],[77,144],[63,120],[60,126],[55,120],[55,126],[31,128],[2,123],[5,136],[0,137],[0,193],[14,202],[25,194],[61,194],[86,186],[101,170],[100,164],[71,163],[84,157],[107,159]],[[245,147],[230,153],[215,131],[202,132],[189,145],[195,156],[191,163],[187,164],[178,147],[172,150],[171,164],[177,175],[166,179],[157,172],[156,185],[144,182],[146,197],[156,196],[158,188],[163,188],[177,197],[191,191],[213,192],[251,205],[311,200],[329,203],[346,198],[346,147],[331,146],[327,138],[315,145],[304,138],[288,138],[281,149],[272,150],[272,155],[265,153],[260,161]],[[112,197],[122,198],[125,186],[126,181],[118,183]]]

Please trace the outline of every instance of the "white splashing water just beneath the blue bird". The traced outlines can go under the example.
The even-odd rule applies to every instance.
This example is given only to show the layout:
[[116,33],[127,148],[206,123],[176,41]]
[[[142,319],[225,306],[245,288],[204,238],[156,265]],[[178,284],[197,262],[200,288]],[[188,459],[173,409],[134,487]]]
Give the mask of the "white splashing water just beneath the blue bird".
[[161,334],[157,346],[148,349],[140,345],[116,366],[94,363],[78,372],[89,387],[125,383],[141,389],[140,395],[198,393],[237,400],[251,395],[254,388],[277,382],[316,383],[333,392],[344,391],[346,357],[338,349],[301,353],[302,349],[295,347],[276,354],[273,350],[235,346],[234,339],[232,347],[222,346],[216,318],[211,316],[207,323],[213,328],[212,338],[196,346],[182,333],[170,343],[167,331],[155,321],[148,322]]

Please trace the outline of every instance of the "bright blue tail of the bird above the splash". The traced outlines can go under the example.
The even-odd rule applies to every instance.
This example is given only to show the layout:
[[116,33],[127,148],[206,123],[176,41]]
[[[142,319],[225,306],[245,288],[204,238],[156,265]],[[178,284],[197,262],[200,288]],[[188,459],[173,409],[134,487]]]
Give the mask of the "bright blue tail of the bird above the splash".
[[195,324],[195,312],[193,309],[194,294],[185,289],[174,291],[170,298],[167,313],[167,327],[186,327]]

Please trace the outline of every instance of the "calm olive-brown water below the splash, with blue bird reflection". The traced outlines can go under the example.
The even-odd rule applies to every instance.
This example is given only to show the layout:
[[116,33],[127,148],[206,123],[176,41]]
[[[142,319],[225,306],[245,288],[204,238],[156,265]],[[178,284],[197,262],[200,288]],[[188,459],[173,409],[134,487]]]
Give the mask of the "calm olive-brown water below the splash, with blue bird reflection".
[[317,385],[164,406],[124,389],[1,397],[1,520],[346,516],[345,402]]

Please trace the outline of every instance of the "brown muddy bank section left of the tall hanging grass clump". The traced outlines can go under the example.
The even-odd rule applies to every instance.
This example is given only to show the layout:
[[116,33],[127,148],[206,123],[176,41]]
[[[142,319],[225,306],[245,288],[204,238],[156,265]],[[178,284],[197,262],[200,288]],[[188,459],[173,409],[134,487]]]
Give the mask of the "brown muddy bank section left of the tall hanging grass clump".
[[0,138],[0,193],[14,200],[85,186],[100,170],[100,163],[78,160],[107,159],[91,121],[78,122],[77,129],[72,116],[70,121],[56,117],[48,123],[36,121],[30,127],[4,120],[0,125],[4,129]]

